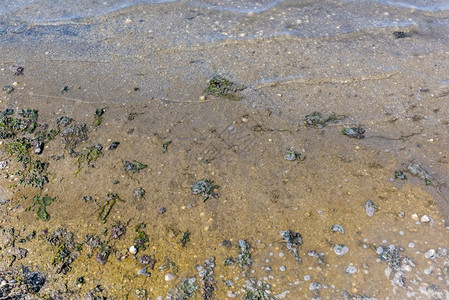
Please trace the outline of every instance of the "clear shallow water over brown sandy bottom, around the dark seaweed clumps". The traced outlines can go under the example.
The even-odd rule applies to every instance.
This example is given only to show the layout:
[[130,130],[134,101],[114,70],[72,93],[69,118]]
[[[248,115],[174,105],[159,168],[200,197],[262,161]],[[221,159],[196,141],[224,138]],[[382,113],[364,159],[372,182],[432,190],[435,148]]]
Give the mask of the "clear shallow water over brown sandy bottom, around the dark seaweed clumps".
[[[59,137],[48,142],[39,157],[49,161],[51,180],[42,191],[11,188],[20,166],[9,162],[2,170],[9,174],[3,198],[10,199],[0,206],[2,271],[21,264],[40,270],[48,276],[41,295],[71,299],[100,285],[103,292],[95,293],[114,299],[135,298],[136,289],[155,299],[182,278],[196,276],[201,286],[195,265],[215,257],[216,299],[244,299],[253,277],[270,284],[277,299],[344,299],[345,291],[447,299],[446,1],[61,3],[0,7],[0,83],[16,82],[2,94],[2,109],[39,109],[39,122],[49,125],[59,116],[84,122],[89,139],[75,150],[99,143],[104,155],[75,177],[77,158]],[[25,67],[24,75],[13,75],[11,65]],[[200,97],[216,74],[246,87],[241,101]],[[95,127],[99,108],[104,121]],[[310,128],[303,121],[313,111],[346,117]],[[355,126],[366,130],[364,139],[342,135]],[[119,147],[106,150],[112,141]],[[166,141],[172,143],[163,154]],[[305,160],[285,160],[288,148],[303,151]],[[126,160],[148,168],[126,172]],[[410,162],[429,173],[430,184],[407,171]],[[395,179],[397,170],[407,180]],[[203,202],[191,194],[204,178],[220,186],[218,198]],[[143,198],[134,194],[138,187]],[[108,193],[124,202],[103,224],[98,213]],[[36,208],[26,210],[36,194],[57,197],[47,222],[35,219]],[[367,200],[377,207],[372,217]],[[424,215],[434,223],[421,222]],[[117,222],[127,231],[116,240],[110,231]],[[141,222],[149,243],[134,257],[128,248]],[[335,224],[344,234],[332,232]],[[33,230],[37,238],[7,243],[11,227],[14,240]],[[57,247],[46,242],[58,228],[83,243],[66,275],[52,264]],[[302,235],[302,264],[282,241],[283,230]],[[113,249],[106,264],[84,243],[86,234]],[[251,246],[249,269],[223,264],[238,255],[239,240]],[[349,248],[344,256],[334,252],[341,244]],[[413,266],[388,268],[375,250],[391,244]],[[28,254],[11,263],[18,248]],[[431,249],[439,254],[426,257]],[[312,250],[324,253],[323,261]],[[142,253],[157,260],[150,277],[137,275]],[[167,258],[177,270],[159,270]],[[165,280],[168,272],[175,280]]]

